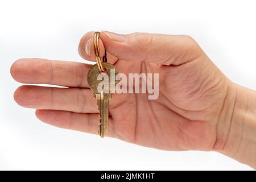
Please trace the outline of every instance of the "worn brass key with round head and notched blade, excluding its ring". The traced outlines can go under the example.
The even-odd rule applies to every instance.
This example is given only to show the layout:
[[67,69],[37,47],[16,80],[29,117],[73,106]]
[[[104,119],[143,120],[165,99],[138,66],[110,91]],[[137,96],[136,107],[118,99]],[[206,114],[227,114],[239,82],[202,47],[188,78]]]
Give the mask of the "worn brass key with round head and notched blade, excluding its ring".
[[90,89],[93,90],[93,96],[97,100],[98,104],[98,110],[100,111],[100,129],[98,133],[103,138],[108,133],[108,120],[109,120],[109,100],[111,99],[111,90],[114,89],[115,85],[117,84],[118,80],[113,82],[113,79],[110,79],[110,70],[113,69],[114,76],[117,76],[117,69],[112,64],[109,63],[102,63],[102,67],[107,72],[109,82],[108,82],[108,90],[107,93],[104,92],[104,90],[98,90],[98,84],[102,80],[97,80],[97,77],[99,74],[101,74],[101,71],[98,69],[98,65],[94,64],[92,68],[89,69],[88,72],[88,84],[90,86]]

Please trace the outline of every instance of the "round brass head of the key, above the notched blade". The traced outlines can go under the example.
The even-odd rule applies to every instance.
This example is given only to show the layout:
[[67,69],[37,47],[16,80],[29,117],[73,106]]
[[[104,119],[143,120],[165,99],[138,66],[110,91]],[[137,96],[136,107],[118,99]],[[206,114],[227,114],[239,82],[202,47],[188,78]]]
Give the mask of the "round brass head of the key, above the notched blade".
[[[105,69],[105,73],[106,75],[108,75],[109,78],[109,92],[110,90],[114,90],[115,89],[115,85],[117,85],[117,83],[119,82],[119,78],[118,78],[118,72],[117,69],[110,63],[101,63],[103,68]],[[113,75],[111,75],[111,70],[112,73],[114,73]],[[98,93],[98,84],[100,84],[100,82],[102,82],[102,80],[97,80],[97,77],[99,74],[102,74],[101,71],[98,69],[97,64],[94,64],[88,72],[87,75],[87,81],[89,84],[90,89],[93,90],[94,92],[94,96],[96,93]],[[113,80],[113,78],[110,78],[110,76],[114,76],[114,78],[118,78],[118,80]]]

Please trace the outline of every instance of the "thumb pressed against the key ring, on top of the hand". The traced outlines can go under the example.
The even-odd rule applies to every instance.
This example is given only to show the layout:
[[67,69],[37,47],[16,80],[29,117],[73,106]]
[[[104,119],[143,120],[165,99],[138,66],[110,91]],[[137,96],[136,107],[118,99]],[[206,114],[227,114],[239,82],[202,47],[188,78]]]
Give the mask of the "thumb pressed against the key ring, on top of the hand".
[[187,35],[133,33],[128,35],[103,31],[100,38],[105,49],[125,61],[150,61],[180,65],[202,55],[200,46]]

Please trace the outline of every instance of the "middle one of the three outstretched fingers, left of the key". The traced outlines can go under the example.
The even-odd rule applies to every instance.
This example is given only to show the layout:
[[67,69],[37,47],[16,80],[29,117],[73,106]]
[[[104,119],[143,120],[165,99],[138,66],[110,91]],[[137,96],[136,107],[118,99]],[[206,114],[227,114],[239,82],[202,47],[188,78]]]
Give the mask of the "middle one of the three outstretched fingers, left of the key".
[[23,107],[65,110],[76,113],[98,113],[93,92],[86,88],[23,85],[15,91],[14,99]]

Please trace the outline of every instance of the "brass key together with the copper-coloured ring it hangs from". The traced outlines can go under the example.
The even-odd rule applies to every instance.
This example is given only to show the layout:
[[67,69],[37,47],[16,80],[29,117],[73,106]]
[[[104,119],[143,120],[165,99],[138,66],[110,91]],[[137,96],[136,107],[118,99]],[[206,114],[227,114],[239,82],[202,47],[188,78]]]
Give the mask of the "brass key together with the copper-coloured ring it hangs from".
[[[93,96],[97,100],[98,110],[100,111],[100,129],[98,133],[103,138],[108,133],[108,120],[109,120],[109,100],[111,99],[111,92],[115,89],[115,85],[118,83],[119,80],[115,80],[117,77],[117,69],[112,64],[106,63],[107,57],[106,52],[103,56],[103,62],[101,61],[100,57],[100,46],[99,46],[99,39],[100,32],[94,33],[94,51],[96,55],[97,64],[94,64],[92,68],[89,69],[87,81],[90,86],[90,89],[93,90]],[[108,76],[108,88],[104,88],[98,90],[98,85],[102,80],[98,80],[98,75],[103,74],[106,71],[106,75]],[[111,71],[114,73],[111,78]],[[105,92],[107,91],[107,92]]]

